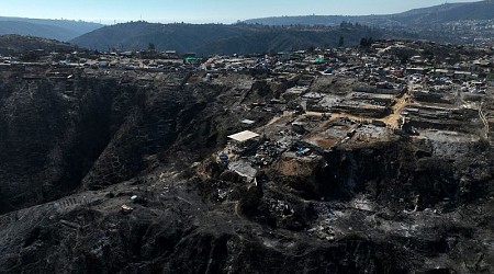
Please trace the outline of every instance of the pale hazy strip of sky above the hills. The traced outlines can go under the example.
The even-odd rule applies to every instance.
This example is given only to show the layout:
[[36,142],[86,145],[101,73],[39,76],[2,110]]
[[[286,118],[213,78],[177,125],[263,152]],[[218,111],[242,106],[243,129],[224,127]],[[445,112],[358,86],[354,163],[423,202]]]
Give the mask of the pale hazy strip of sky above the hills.
[[[449,0],[475,2],[479,0]],[[103,23],[232,23],[280,15],[386,14],[441,4],[445,0],[2,0],[0,16],[86,20]]]

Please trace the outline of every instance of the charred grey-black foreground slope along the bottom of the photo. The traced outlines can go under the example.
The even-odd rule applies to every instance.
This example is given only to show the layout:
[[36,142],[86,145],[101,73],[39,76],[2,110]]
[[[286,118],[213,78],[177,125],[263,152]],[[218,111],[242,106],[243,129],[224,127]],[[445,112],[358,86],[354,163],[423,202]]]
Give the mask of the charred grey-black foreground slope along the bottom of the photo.
[[[326,201],[302,198],[287,186],[290,178],[246,184],[209,161],[182,172],[158,167],[97,192],[0,216],[0,269],[490,273],[494,204],[475,196],[485,197],[492,186],[463,184],[476,192],[471,197],[451,190],[458,189],[454,176],[489,169],[475,162],[492,156],[446,167],[417,158],[422,149],[402,140],[326,156],[340,167],[338,180],[314,168],[300,178],[308,185],[299,185],[333,189],[319,192]],[[351,180],[360,183],[351,187]],[[424,199],[414,210],[417,194]],[[122,214],[122,205],[133,210]]]

